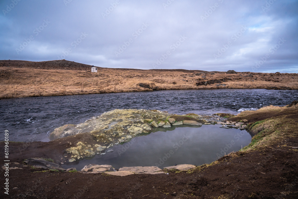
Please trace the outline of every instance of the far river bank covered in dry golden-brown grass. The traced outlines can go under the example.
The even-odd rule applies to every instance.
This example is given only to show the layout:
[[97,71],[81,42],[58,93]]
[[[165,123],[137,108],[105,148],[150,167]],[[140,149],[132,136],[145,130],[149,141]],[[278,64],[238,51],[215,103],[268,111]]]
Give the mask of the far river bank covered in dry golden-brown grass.
[[296,73],[100,68],[72,61],[0,61],[0,99],[153,90],[252,88],[297,90]]

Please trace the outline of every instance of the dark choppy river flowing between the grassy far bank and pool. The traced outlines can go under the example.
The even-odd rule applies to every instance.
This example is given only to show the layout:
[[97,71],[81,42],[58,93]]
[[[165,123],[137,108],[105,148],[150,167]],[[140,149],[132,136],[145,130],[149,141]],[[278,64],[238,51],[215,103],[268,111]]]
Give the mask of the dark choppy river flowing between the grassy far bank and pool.
[[[64,124],[79,124],[113,109],[157,109],[176,114],[218,112],[238,114],[263,106],[285,106],[297,100],[297,90],[217,89],[166,90],[0,100],[1,132],[10,141],[49,141],[49,133]],[[1,141],[4,140],[2,136]]]

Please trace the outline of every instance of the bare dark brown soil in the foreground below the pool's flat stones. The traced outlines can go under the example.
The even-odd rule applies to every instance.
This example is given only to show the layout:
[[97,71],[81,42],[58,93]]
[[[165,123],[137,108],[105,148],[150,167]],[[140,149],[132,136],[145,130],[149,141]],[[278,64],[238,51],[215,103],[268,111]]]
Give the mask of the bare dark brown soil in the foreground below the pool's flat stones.
[[[169,175],[117,177],[36,172],[38,170],[22,164],[18,166],[22,169],[10,170],[9,195],[5,195],[2,189],[0,197],[298,198],[298,153],[297,149],[289,146],[298,147],[298,138],[286,139],[278,145],[251,153],[237,152],[233,156],[224,156],[218,164],[202,167],[201,171],[193,174],[169,172]],[[48,152],[52,150],[55,149],[48,148]],[[36,156],[36,153],[32,152],[31,156]],[[1,178],[0,184],[3,186],[4,178]]]

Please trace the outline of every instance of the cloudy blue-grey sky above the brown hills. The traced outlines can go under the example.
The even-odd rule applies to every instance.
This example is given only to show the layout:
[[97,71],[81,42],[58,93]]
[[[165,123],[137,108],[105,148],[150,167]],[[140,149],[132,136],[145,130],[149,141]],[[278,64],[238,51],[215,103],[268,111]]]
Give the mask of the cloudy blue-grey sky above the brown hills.
[[0,60],[298,72],[297,0],[1,0]]

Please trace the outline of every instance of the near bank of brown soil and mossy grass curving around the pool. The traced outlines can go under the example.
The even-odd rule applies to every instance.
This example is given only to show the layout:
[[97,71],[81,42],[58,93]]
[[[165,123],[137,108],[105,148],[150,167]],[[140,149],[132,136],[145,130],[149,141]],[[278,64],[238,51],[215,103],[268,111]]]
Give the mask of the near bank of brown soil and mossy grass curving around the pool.
[[[10,195],[13,198],[297,198],[298,197],[298,105],[263,107],[244,111],[226,120],[245,122],[256,134],[243,151],[224,155],[208,165],[167,174],[55,172],[35,169],[24,158],[59,158],[69,136],[51,142],[11,143]],[[230,118],[227,118],[230,117]],[[81,134],[82,135],[82,134]],[[91,134],[90,134],[91,135]],[[89,137],[91,139],[91,137]],[[85,140],[89,139],[84,137]],[[53,142],[56,142],[53,147]],[[1,142],[2,144],[2,142]],[[36,150],[38,148],[38,150]],[[51,151],[51,154],[49,154]],[[31,153],[31,154],[30,154]],[[30,180],[28,180],[30,179]],[[1,178],[1,184],[3,179]],[[1,196],[4,196],[1,192]]]

